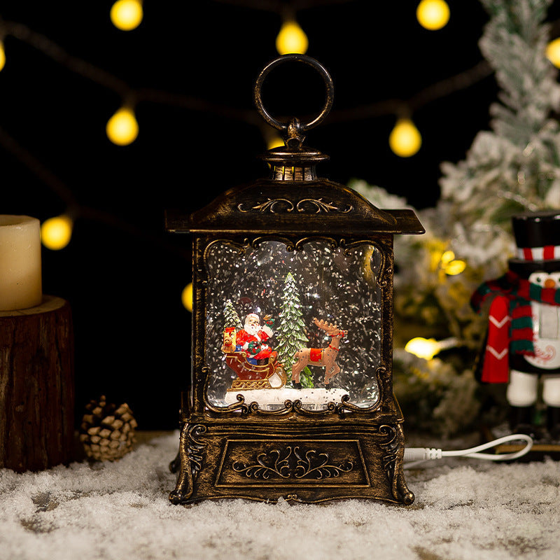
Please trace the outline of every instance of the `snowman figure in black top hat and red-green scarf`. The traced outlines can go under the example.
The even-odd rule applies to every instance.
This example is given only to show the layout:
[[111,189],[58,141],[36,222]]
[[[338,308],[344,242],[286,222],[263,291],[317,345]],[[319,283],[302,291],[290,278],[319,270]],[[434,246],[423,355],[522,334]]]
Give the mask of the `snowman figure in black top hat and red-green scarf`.
[[560,438],[560,211],[512,218],[516,258],[507,273],[472,295],[479,311],[492,298],[488,335],[479,363],[482,382],[508,383],[510,428],[536,435],[533,426],[542,381],[547,430]]

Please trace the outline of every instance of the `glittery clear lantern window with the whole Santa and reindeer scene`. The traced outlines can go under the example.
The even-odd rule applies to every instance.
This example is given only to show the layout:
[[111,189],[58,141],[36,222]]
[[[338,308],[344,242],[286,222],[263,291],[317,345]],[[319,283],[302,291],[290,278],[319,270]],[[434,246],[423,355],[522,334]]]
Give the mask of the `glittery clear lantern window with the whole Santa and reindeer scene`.
[[258,402],[283,409],[300,400],[325,409],[344,395],[360,407],[379,400],[379,251],[309,241],[239,246],[217,241],[208,272],[207,398],[227,407]]

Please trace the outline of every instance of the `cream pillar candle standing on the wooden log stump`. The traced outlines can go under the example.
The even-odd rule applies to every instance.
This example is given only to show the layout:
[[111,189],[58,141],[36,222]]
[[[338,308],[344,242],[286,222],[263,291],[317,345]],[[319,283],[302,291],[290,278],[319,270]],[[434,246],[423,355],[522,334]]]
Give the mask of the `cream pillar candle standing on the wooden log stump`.
[[39,221],[0,214],[0,311],[27,309],[42,299]]

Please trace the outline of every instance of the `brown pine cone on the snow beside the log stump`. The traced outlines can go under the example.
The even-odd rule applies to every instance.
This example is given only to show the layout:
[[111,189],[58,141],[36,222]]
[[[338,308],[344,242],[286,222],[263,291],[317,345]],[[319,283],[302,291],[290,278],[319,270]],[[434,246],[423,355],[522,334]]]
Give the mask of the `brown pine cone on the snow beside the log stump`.
[[107,404],[103,395],[99,402],[85,405],[80,425],[80,442],[85,454],[96,461],[115,461],[129,451],[136,441],[134,428],[138,426],[126,403],[116,407]]

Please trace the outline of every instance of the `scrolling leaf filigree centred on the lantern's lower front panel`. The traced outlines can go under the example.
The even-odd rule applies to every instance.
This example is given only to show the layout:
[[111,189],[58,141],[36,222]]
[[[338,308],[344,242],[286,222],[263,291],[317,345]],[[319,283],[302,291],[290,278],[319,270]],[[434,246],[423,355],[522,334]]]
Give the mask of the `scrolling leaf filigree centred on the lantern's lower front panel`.
[[248,478],[270,477],[283,479],[314,478],[316,480],[338,477],[342,472],[350,472],[354,465],[352,461],[330,463],[328,454],[315,449],[302,451],[299,445],[288,445],[285,449],[271,449],[258,454],[255,463],[246,464],[236,461],[232,469]]

